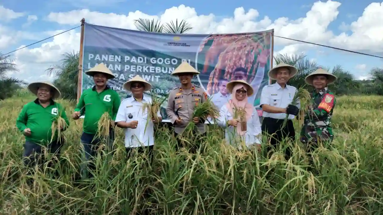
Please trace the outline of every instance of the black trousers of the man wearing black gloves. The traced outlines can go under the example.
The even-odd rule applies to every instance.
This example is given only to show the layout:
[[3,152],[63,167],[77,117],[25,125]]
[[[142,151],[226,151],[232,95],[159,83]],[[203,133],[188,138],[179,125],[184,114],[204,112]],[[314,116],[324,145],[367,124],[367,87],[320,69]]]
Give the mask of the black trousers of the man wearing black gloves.
[[[288,120],[283,127],[284,119],[274,119],[265,117],[262,121],[262,134],[267,137],[267,156],[270,158],[273,148],[277,148],[279,143],[285,138],[289,138],[291,142],[295,142],[295,130],[293,121]],[[286,140],[287,142],[287,140]],[[268,143],[271,144],[268,145]],[[288,160],[292,155],[292,147],[289,144],[286,147],[285,159]]]

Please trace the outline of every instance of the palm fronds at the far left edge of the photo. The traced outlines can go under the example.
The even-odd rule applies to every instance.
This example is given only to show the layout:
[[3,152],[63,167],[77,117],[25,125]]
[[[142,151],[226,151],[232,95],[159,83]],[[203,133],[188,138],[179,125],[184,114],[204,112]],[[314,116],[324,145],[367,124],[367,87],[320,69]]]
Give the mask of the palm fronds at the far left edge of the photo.
[[21,88],[21,85],[27,84],[23,80],[8,77],[7,73],[12,71],[18,72],[19,70],[13,63],[11,55],[3,55],[0,52],[0,100],[11,97]]

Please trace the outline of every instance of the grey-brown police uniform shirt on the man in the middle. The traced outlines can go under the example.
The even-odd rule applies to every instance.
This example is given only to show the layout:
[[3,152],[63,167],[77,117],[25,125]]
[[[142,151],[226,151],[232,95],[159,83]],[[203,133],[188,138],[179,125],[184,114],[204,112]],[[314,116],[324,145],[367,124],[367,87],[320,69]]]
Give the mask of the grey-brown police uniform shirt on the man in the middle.
[[[177,134],[182,134],[185,127],[193,120],[194,107],[208,99],[208,94],[198,86],[191,86],[190,90],[175,88],[169,93],[168,105],[166,114],[170,122],[174,124],[178,116],[182,119],[181,124],[174,124],[174,131]],[[178,116],[175,114],[178,109]],[[205,132],[205,124],[197,124],[198,131]]]

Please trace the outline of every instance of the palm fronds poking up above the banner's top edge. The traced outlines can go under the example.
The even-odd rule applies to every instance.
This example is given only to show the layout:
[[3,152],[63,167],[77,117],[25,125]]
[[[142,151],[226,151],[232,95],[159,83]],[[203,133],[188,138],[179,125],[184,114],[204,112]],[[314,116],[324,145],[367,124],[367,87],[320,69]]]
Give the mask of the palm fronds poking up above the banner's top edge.
[[134,25],[139,31],[156,32],[156,33],[168,33],[168,34],[184,34],[185,32],[192,29],[189,23],[185,20],[175,20],[175,23],[162,24],[159,20],[149,19],[138,19],[134,20]]

